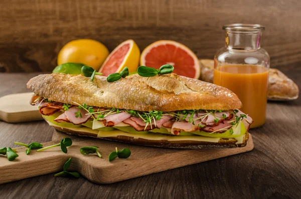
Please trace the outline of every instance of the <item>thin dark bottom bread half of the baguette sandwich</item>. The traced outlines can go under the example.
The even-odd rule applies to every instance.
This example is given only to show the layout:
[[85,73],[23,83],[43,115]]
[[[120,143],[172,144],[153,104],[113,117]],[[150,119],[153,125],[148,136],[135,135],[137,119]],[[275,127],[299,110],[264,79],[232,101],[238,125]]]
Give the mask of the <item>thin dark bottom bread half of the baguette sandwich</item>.
[[237,141],[234,138],[223,138],[219,142],[202,142],[202,141],[168,141],[168,140],[147,140],[147,139],[135,139],[129,136],[117,136],[117,137],[97,137],[96,134],[74,131],[64,127],[53,126],[56,130],[64,132],[70,135],[78,135],[85,137],[101,138],[111,141],[124,142],[129,144],[138,144],[143,146],[156,146],[165,148],[236,148],[244,147],[247,145],[249,139],[249,133],[246,132],[241,144],[235,144]]

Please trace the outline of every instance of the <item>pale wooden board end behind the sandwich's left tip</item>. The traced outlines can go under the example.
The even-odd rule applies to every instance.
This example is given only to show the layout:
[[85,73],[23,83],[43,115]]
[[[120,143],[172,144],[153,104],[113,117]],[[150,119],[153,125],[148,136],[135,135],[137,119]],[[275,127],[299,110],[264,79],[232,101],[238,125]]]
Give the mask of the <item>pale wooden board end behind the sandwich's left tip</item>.
[[29,101],[34,93],[16,93],[0,97],[0,120],[9,123],[42,120],[37,106]]

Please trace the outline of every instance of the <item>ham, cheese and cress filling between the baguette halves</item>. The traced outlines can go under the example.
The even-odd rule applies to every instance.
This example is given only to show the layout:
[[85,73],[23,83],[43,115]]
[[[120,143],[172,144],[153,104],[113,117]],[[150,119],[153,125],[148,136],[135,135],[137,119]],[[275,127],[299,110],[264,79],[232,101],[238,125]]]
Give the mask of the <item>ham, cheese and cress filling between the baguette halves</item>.
[[136,111],[86,104],[64,104],[35,95],[32,105],[39,107],[46,120],[62,127],[83,126],[99,131],[161,133],[169,136],[234,138],[248,131],[253,120],[240,110]]

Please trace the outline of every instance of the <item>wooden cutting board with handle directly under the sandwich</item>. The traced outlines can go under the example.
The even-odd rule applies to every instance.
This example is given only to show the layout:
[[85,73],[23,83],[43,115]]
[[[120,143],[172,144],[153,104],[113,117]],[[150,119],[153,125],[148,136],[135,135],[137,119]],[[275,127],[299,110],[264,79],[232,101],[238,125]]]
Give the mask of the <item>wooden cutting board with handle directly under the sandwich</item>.
[[[0,155],[0,183],[60,172],[69,157],[72,157],[69,170],[78,171],[82,176],[95,183],[113,183],[247,152],[254,147],[251,135],[248,144],[242,148],[170,149],[71,136],[58,131],[53,134],[54,141],[46,142],[44,146],[57,144],[64,137],[70,137],[73,141],[72,146],[68,147],[67,154],[63,153],[60,147],[55,147],[42,152],[32,150],[29,155],[26,155],[26,148],[18,147],[16,149],[19,157],[14,161],[8,161],[6,156]],[[99,146],[102,158],[96,154],[82,155],[79,148],[83,146]],[[115,150],[116,146],[119,150],[129,148],[131,150],[130,157],[127,159],[116,158],[109,162],[108,155]]]

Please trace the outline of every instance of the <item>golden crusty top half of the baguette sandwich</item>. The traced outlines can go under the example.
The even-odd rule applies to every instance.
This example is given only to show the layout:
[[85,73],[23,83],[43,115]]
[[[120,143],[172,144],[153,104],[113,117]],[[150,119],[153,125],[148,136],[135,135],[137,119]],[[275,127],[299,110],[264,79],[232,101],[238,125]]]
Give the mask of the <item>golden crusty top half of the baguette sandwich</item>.
[[56,102],[138,111],[185,109],[239,109],[241,102],[230,90],[176,74],[141,77],[138,74],[107,82],[82,75],[45,74],[32,78],[27,87]]

